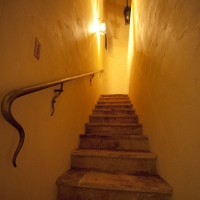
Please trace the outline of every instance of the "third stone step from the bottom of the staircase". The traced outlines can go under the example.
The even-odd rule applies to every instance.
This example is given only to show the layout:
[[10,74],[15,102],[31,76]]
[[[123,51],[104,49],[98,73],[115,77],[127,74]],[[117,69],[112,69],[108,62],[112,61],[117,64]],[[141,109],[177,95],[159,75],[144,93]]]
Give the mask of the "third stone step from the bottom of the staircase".
[[80,149],[115,151],[149,151],[148,137],[144,135],[80,135]]

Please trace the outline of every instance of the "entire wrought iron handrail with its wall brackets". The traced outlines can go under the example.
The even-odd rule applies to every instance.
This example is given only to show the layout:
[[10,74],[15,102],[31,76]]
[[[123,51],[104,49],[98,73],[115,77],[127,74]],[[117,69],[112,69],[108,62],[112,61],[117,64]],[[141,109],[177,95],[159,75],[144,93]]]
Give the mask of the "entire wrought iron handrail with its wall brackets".
[[[72,81],[72,80],[75,80],[75,79],[78,79],[78,78],[82,78],[84,76],[91,76],[91,78],[90,78],[90,85],[91,85],[91,81],[92,81],[92,78],[94,77],[94,74],[98,73],[98,72],[102,73],[103,70],[93,71],[93,72],[90,72],[90,73],[81,74],[81,75],[77,75],[77,76],[73,76],[73,77],[68,77],[68,78],[57,80],[57,81],[48,82],[48,83],[35,85],[35,86],[31,86],[31,87],[16,89],[16,90],[13,90],[13,91],[7,93],[4,96],[4,98],[1,102],[1,112],[4,116],[4,118],[6,119],[6,121],[8,123],[10,123],[12,126],[14,126],[19,132],[19,143],[18,143],[17,149],[15,150],[15,153],[14,153],[13,159],[12,159],[12,163],[13,163],[14,167],[17,167],[16,158],[17,158],[17,156],[18,156],[18,154],[19,154],[19,152],[20,152],[20,150],[23,146],[24,138],[25,138],[25,132],[24,132],[23,127],[15,120],[15,118],[13,117],[12,112],[11,112],[11,106],[12,106],[12,103],[14,102],[14,100],[21,97],[21,96],[24,96],[24,95],[27,95],[27,94],[30,94],[30,93],[34,93],[34,92],[37,92],[37,91],[40,91],[40,90],[43,90],[43,89],[47,89],[47,88],[50,88],[50,87],[53,87],[53,86],[56,86],[56,85],[59,85],[59,84],[61,84],[61,89],[59,90],[59,95],[60,95],[60,93],[63,91],[62,90],[63,83],[66,83],[66,82],[69,82],[69,81]],[[55,91],[58,92],[58,90],[55,90]],[[56,95],[52,99],[53,111],[54,111],[55,99],[59,95]],[[53,114],[53,112],[52,112],[52,114]]]

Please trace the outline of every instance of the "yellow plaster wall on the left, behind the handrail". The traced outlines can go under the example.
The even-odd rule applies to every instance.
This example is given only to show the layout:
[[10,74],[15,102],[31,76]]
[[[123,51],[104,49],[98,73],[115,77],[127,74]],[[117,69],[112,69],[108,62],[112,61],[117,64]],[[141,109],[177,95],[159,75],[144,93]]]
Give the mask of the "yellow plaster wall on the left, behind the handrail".
[[[98,18],[97,0],[0,0],[0,100],[11,90],[100,69],[98,38],[88,31]],[[35,38],[41,57],[33,56]],[[0,199],[55,200],[56,178],[70,168],[94,104],[102,93],[96,74],[64,85],[51,115],[53,87],[17,99],[12,112],[26,132],[11,160],[18,132],[0,114]]]

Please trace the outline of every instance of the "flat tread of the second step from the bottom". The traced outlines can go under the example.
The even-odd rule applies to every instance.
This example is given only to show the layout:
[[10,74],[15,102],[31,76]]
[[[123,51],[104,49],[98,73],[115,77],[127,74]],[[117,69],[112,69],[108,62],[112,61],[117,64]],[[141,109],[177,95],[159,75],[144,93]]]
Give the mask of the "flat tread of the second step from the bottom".
[[71,155],[157,159],[157,155],[150,151],[142,152],[142,151],[112,151],[112,150],[96,150],[96,149],[75,149],[75,150],[71,151]]

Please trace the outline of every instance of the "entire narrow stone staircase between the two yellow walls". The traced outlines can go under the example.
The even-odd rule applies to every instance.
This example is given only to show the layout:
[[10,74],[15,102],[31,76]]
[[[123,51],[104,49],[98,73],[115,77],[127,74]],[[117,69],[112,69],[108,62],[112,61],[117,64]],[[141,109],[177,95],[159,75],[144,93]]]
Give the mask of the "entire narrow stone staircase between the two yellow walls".
[[57,179],[58,200],[169,200],[127,95],[101,95],[71,152],[71,169]]

